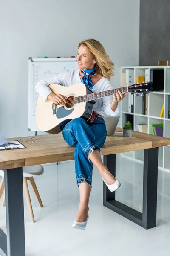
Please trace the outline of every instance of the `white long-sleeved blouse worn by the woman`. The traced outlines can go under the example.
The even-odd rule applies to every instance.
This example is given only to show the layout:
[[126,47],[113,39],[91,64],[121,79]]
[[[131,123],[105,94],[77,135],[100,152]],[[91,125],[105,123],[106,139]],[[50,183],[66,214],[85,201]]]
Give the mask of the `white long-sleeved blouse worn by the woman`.
[[[79,69],[69,71],[66,70],[63,73],[57,74],[53,77],[50,77],[45,80],[39,81],[35,85],[36,91],[43,97],[46,101],[48,95],[52,92],[51,89],[48,87],[50,84],[59,84],[62,86],[71,86],[73,84],[81,83],[81,79],[79,76]],[[92,89],[93,93],[98,93],[105,90],[112,90],[113,87],[111,86],[111,82],[105,78],[104,76],[94,85]],[[94,104],[94,111],[101,115],[101,116],[116,116],[119,113],[119,105],[117,106],[115,111],[111,109],[111,102],[113,96],[108,96],[101,99],[95,99],[96,103]]]

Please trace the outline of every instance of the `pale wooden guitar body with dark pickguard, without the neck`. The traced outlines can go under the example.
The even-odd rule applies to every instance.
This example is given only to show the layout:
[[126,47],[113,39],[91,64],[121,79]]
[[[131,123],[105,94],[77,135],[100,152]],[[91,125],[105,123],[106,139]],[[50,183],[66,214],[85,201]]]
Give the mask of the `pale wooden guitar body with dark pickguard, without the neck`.
[[58,84],[50,84],[49,88],[55,94],[66,96],[67,107],[63,104],[56,105],[51,100],[44,99],[39,96],[36,109],[36,123],[40,130],[49,134],[58,134],[61,132],[61,122],[71,120],[77,117],[82,117],[85,121],[90,119],[93,105],[95,101],[79,102],[74,104],[74,97],[84,96],[93,93],[85,84],[78,83],[69,87],[64,87]]

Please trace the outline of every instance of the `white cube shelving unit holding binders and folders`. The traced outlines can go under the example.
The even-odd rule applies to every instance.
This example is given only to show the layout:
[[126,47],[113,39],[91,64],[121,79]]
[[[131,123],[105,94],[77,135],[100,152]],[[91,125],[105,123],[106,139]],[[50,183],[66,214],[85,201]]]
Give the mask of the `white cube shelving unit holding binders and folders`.
[[[148,96],[148,115],[142,114],[142,97],[139,93],[139,97],[134,96],[134,113],[128,112],[128,96],[121,101],[121,111],[120,111],[120,122],[121,127],[126,121],[126,114],[133,115],[133,129],[138,131],[138,124],[147,124],[147,133],[152,134],[151,124],[162,123],[164,126],[163,136],[170,138],[170,119],[168,119],[168,110],[166,109],[168,105],[168,95],[170,95],[170,66],[134,66],[134,67],[121,67],[121,84],[122,84],[122,73],[126,69],[134,70],[134,84],[136,83],[137,76],[145,77],[145,69],[149,69],[149,74],[151,69],[164,69],[164,92],[155,91],[153,84],[153,93],[149,93]],[[150,81],[148,77],[147,81]],[[122,85],[121,85],[122,87]],[[164,104],[164,117],[160,117],[162,105]],[[132,157],[133,159],[143,161],[143,150],[132,151],[127,153],[122,153],[127,157]],[[159,147],[159,167],[170,171],[170,146]]]

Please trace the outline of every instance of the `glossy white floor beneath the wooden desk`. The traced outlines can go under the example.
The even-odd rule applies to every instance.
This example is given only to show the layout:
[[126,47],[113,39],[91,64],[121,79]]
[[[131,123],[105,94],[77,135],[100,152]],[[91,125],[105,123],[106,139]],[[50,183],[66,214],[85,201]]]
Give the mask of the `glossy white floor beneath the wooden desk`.
[[[71,227],[79,206],[74,161],[44,168],[44,175],[34,178],[44,208],[29,186],[35,223],[24,197],[26,256],[170,255],[170,173],[159,170],[157,227],[145,230],[102,205],[102,177],[94,167],[88,224],[78,230]],[[118,154],[116,168],[122,183],[116,199],[142,211],[143,165]],[[5,207],[0,209],[0,227],[6,232]]]

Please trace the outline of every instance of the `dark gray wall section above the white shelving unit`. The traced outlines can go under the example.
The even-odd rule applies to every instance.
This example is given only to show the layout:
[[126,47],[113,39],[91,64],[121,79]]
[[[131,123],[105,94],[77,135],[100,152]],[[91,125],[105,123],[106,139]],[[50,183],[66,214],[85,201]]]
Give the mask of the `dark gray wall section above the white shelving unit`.
[[140,0],[139,65],[170,61],[170,0]]

